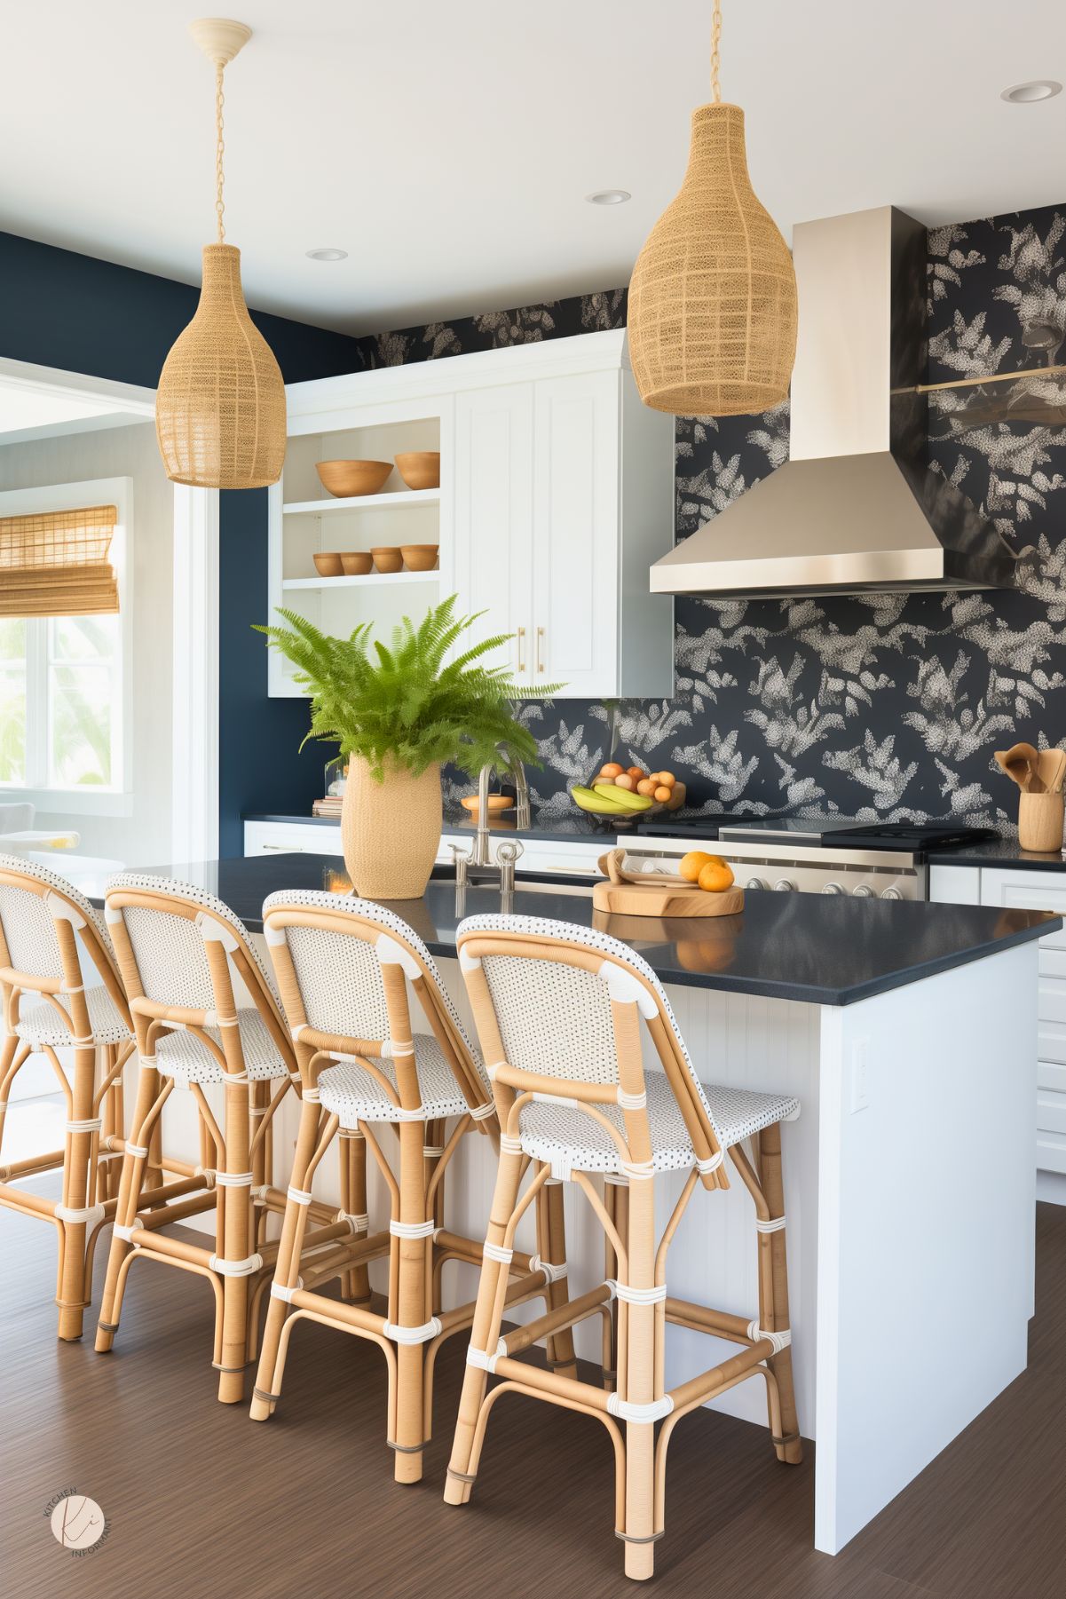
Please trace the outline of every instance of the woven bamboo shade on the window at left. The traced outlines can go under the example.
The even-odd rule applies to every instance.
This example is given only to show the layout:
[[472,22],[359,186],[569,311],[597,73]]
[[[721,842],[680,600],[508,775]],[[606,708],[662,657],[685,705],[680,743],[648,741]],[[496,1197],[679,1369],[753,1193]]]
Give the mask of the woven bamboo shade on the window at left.
[[0,516],[0,616],[93,616],[118,609],[113,505]]

